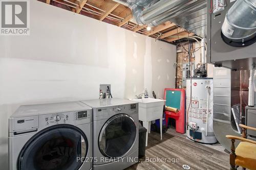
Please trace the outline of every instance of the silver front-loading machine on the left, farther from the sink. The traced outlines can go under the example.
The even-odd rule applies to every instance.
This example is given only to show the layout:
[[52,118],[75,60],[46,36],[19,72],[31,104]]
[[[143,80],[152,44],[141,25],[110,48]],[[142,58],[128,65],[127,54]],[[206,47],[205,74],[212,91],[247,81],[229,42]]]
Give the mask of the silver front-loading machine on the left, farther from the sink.
[[92,169],[92,109],[81,102],[20,106],[8,138],[10,170]]

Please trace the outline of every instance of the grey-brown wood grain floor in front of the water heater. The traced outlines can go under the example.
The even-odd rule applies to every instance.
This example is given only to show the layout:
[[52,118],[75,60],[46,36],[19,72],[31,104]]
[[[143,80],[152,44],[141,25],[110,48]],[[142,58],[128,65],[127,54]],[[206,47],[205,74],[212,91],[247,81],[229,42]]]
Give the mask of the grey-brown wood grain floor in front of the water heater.
[[[189,165],[190,169],[205,170],[229,169],[229,155],[227,153],[206,147],[200,143],[186,138],[185,135],[168,130],[160,140],[160,134],[151,132],[148,135],[146,147],[146,159],[126,168],[125,170],[144,169],[184,169],[183,165]],[[148,161],[149,158],[166,158],[166,161]],[[167,158],[178,158],[172,163]]]

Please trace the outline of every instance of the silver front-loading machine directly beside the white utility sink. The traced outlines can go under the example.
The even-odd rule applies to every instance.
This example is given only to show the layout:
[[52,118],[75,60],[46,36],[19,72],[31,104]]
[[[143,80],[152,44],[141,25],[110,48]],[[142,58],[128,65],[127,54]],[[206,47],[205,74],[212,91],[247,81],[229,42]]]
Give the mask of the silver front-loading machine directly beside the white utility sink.
[[93,108],[93,169],[118,170],[138,162],[138,103],[123,99],[82,101]]

